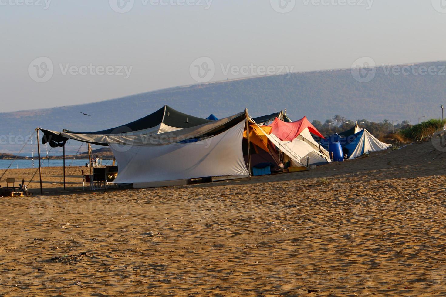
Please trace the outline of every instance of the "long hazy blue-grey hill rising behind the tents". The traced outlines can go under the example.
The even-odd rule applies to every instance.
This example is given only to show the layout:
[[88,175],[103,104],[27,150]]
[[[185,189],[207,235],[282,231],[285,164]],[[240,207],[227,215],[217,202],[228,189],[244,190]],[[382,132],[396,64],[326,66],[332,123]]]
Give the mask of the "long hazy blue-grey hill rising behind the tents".
[[[435,67],[440,72],[436,75],[394,75],[380,67],[375,78],[367,83],[356,81],[350,69],[314,71],[176,87],[77,106],[2,113],[0,135],[29,135],[37,126],[52,130],[101,130],[141,118],[165,104],[199,117],[212,113],[222,118],[244,108],[252,116],[260,116],[286,108],[293,120],[306,115],[310,121],[323,122],[340,114],[351,119],[407,119],[417,123],[419,116],[441,116],[439,105],[446,105],[445,65],[445,61],[438,61],[412,66]],[[2,141],[0,152],[19,151],[18,142]],[[74,153],[78,146],[71,142],[68,151]]]

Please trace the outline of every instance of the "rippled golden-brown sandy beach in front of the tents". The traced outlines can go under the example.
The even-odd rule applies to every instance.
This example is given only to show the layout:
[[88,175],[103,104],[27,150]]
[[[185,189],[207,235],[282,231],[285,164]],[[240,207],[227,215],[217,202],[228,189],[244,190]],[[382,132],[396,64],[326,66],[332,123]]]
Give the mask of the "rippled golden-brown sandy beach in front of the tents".
[[[0,198],[1,296],[444,296],[446,153],[431,142],[312,171],[82,191],[43,168]],[[3,171],[2,171],[3,172]],[[27,182],[33,169],[10,170]]]

